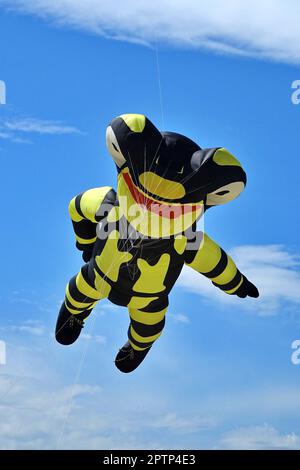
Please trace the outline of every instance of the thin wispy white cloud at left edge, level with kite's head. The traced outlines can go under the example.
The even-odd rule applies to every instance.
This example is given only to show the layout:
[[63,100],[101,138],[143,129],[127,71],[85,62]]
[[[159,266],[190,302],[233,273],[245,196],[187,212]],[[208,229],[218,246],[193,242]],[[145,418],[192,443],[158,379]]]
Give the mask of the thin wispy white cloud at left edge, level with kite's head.
[[66,126],[58,121],[43,121],[41,119],[22,118],[4,122],[4,127],[10,131],[37,134],[79,134],[76,127]]

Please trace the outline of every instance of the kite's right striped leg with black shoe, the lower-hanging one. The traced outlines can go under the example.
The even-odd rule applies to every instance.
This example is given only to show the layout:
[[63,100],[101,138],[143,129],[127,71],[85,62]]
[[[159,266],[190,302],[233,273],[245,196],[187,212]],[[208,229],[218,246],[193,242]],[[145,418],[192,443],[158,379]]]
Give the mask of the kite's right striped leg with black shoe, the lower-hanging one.
[[115,364],[121,372],[132,372],[148,354],[165,326],[167,307],[157,312],[128,308],[128,341],[117,354]]

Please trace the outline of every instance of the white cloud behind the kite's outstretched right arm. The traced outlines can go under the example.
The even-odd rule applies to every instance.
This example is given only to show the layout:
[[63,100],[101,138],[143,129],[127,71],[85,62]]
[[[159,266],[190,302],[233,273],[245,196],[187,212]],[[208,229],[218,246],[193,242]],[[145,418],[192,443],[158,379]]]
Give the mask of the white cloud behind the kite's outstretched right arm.
[[258,299],[225,294],[201,274],[185,267],[178,285],[220,304],[237,306],[259,315],[273,315],[300,304],[299,255],[282,245],[249,245],[230,252],[238,268],[260,291]]

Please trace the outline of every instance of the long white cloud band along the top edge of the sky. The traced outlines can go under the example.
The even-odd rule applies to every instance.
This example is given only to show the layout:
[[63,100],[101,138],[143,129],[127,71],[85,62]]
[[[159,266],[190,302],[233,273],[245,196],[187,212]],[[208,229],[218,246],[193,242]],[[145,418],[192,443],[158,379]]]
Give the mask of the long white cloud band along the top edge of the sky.
[[300,61],[297,0],[0,0],[0,5],[118,40],[162,41]]

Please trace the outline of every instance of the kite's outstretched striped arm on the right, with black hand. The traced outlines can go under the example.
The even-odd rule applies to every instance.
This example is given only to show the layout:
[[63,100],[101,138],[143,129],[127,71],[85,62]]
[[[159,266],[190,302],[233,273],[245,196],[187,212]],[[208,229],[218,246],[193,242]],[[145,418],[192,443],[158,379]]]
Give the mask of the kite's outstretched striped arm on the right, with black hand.
[[186,264],[227,294],[259,296],[257,288],[238,270],[231,257],[206,234],[203,234],[198,250],[188,252]]

